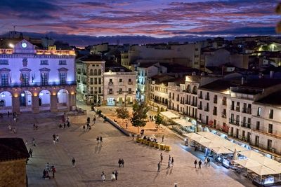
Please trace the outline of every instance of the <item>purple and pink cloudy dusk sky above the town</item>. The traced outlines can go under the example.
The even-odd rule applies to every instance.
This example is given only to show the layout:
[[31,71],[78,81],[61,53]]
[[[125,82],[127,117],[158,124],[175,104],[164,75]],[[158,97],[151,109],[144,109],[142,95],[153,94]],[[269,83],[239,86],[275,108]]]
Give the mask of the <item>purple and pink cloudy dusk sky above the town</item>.
[[0,32],[84,36],[274,34],[273,0],[1,0]]

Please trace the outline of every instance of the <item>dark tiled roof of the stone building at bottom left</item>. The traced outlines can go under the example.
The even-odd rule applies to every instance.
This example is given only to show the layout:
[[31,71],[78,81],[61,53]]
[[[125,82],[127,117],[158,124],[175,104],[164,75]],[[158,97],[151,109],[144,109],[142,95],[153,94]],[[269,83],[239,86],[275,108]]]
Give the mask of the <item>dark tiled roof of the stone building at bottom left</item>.
[[0,161],[29,158],[21,138],[0,138]]

